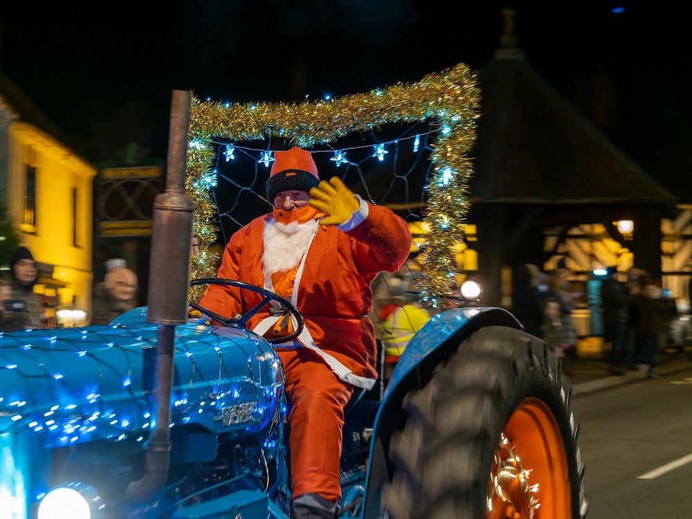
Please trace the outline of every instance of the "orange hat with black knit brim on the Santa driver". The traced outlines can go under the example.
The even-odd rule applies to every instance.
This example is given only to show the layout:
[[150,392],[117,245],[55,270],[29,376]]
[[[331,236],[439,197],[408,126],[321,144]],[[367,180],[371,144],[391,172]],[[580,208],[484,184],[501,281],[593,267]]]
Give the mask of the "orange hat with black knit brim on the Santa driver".
[[266,181],[266,196],[270,203],[282,191],[305,191],[320,185],[317,166],[307,149],[294,147],[287,152],[275,152],[271,174]]

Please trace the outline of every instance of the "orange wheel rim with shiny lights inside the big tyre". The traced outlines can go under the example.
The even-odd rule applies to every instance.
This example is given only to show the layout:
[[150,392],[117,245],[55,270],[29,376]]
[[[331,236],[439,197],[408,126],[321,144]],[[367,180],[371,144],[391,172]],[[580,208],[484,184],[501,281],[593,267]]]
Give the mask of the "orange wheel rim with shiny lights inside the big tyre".
[[530,398],[514,410],[495,451],[488,519],[560,519],[572,514],[565,444],[552,412]]

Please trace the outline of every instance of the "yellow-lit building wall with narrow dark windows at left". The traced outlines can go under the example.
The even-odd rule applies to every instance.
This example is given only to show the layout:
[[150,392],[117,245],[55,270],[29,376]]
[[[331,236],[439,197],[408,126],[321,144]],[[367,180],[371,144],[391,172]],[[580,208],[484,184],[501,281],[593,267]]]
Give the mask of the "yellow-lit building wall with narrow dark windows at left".
[[[37,262],[53,265],[60,304],[91,309],[92,185],[96,170],[68,147],[26,122],[10,125],[8,215]],[[35,233],[21,230],[26,166],[36,167]],[[76,233],[73,189],[77,190]],[[75,242],[76,235],[76,242]],[[48,287],[49,289],[51,287]],[[69,297],[68,297],[69,296]],[[67,299],[70,300],[67,300]]]

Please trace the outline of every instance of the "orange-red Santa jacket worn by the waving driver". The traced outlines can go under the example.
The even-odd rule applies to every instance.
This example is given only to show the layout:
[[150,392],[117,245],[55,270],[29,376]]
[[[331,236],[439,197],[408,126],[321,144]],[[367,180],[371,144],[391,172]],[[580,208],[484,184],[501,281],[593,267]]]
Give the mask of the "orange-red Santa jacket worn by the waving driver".
[[[218,277],[264,286],[262,253],[266,215],[231,237]],[[382,271],[397,271],[406,262],[411,235],[403,219],[381,206],[368,204],[367,217],[352,230],[322,227],[314,237],[302,271],[297,308],[316,345],[356,376],[376,379],[376,347],[370,284]],[[232,286],[210,285],[201,306],[233,317],[245,313],[261,296]],[[268,308],[248,323],[253,329],[269,316]]]

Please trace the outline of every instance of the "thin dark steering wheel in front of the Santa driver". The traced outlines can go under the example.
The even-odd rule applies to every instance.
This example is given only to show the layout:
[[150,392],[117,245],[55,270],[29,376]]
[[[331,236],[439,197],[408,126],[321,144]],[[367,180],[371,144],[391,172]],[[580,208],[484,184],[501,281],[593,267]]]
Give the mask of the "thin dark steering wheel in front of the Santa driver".
[[209,316],[215,321],[218,321],[221,323],[221,325],[224,326],[232,326],[235,328],[240,328],[240,329],[248,329],[247,323],[248,320],[251,320],[255,314],[260,311],[262,308],[264,308],[269,302],[271,301],[276,301],[277,303],[280,304],[280,307],[284,309],[285,311],[289,312],[291,316],[295,318],[295,321],[298,322],[298,326],[295,327],[295,330],[291,334],[286,334],[286,335],[280,335],[280,336],[275,336],[275,337],[265,337],[264,339],[268,343],[276,344],[276,343],[286,343],[289,340],[293,340],[296,337],[298,337],[304,327],[303,323],[303,318],[300,315],[300,312],[295,309],[293,304],[290,302],[286,301],[284,298],[276,295],[275,293],[268,291],[266,289],[262,289],[259,286],[255,286],[253,284],[249,283],[244,283],[242,281],[236,281],[236,280],[225,280],[221,277],[203,277],[199,280],[192,280],[190,282],[190,286],[197,286],[200,284],[220,284],[224,286],[237,286],[239,289],[244,289],[244,290],[249,290],[251,292],[258,293],[260,295],[264,295],[264,299],[255,305],[255,307],[251,308],[248,310],[244,316],[242,316],[239,319],[231,319],[231,318],[226,318],[219,316],[218,313],[212,312],[209,309],[206,309],[205,307],[201,306],[200,304],[197,304],[196,302],[190,301],[190,306],[194,308],[197,311],[201,311],[206,316]]

